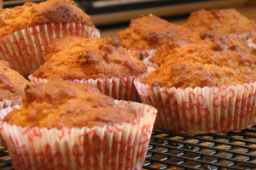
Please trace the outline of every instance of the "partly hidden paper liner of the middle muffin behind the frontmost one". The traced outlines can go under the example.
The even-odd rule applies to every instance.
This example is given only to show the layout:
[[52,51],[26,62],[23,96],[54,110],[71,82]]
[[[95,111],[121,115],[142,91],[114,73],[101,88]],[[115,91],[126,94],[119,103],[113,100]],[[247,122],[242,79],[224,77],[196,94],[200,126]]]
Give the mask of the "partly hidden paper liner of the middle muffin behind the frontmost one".
[[[141,99],[133,83],[137,77],[139,77],[139,75],[127,76],[127,77],[121,77],[121,78],[116,78],[116,77],[104,78],[104,79],[97,78],[96,80],[94,79],[73,80],[70,82],[89,83],[99,88],[102,94],[113,97],[113,99],[119,99],[119,100],[123,99],[123,100],[140,102]],[[47,79],[33,77],[32,75],[30,75],[28,78],[30,82],[34,82],[34,83],[45,83],[49,81]]]

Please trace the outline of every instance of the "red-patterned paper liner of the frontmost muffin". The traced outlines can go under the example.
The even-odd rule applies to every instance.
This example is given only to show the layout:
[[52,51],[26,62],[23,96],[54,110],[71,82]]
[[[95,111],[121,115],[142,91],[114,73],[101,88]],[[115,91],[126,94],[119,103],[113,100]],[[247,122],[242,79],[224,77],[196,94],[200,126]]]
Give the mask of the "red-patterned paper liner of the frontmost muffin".
[[[137,121],[61,130],[22,128],[1,121],[0,133],[15,169],[141,169],[157,111],[136,102],[116,103]],[[0,116],[11,110],[1,110]]]

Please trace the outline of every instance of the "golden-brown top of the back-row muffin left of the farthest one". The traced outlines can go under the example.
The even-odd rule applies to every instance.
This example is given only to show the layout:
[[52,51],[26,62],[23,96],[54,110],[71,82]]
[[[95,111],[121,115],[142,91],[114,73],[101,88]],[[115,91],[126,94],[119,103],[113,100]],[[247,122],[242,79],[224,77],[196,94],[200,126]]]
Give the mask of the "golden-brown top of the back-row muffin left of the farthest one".
[[154,49],[180,34],[182,28],[154,15],[131,20],[130,26],[119,31],[121,46],[131,49]]

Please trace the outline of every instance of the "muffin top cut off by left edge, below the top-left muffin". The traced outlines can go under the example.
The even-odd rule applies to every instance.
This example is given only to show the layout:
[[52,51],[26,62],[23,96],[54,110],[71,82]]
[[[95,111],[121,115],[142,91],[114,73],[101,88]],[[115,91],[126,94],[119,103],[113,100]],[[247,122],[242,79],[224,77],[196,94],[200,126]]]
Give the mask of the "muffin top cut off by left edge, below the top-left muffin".
[[0,60],[0,101],[20,99],[24,95],[24,88],[30,84],[19,72],[9,66],[9,62]]

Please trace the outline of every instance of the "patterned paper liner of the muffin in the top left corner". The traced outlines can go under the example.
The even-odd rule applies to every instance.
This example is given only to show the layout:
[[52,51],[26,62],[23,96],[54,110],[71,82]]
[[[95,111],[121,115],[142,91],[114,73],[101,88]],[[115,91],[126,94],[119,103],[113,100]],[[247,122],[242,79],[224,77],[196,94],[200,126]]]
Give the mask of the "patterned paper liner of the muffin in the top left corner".
[[8,60],[23,76],[44,64],[45,48],[55,39],[65,36],[100,37],[99,31],[81,24],[45,24],[15,31],[0,39],[0,59]]

